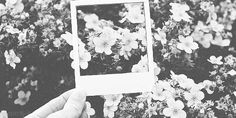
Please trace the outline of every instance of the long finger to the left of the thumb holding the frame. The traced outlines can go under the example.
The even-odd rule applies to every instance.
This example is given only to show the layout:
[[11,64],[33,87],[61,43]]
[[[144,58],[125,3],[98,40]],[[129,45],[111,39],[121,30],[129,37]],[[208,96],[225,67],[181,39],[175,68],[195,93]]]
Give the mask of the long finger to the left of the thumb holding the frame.
[[54,98],[53,100],[49,101],[47,104],[40,107],[25,118],[46,118],[49,114],[63,109],[65,103],[67,102],[68,98],[73,93],[73,91],[75,90],[69,90],[60,95],[59,97]]

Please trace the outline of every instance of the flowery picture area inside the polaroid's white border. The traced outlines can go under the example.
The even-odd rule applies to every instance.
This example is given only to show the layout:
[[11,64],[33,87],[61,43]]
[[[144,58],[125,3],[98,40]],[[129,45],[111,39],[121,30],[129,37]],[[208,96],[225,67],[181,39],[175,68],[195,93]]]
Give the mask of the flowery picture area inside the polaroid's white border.
[[148,72],[142,2],[77,6],[76,16],[81,75]]

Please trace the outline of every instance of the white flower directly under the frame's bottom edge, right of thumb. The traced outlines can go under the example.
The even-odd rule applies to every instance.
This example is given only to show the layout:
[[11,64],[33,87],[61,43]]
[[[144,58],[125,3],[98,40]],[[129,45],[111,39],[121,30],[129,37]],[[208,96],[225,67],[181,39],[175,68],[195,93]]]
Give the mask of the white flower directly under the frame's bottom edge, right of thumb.
[[120,100],[123,98],[122,94],[117,95],[106,95],[104,96],[105,103],[108,106],[117,106],[120,103]]

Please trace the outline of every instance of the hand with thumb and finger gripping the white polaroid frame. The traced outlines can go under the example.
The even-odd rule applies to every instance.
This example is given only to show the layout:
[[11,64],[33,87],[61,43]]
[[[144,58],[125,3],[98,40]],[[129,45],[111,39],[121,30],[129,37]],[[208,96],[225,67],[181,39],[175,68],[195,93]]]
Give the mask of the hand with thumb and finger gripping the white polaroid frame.
[[49,101],[25,118],[87,118],[86,94],[70,90]]

